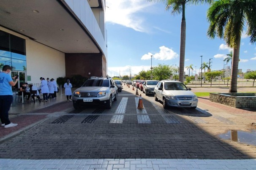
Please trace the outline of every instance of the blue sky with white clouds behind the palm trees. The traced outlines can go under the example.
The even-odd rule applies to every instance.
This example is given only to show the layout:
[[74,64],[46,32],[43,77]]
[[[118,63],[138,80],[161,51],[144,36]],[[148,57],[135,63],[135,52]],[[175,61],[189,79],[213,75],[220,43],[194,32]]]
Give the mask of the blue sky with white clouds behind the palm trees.
[[[209,5],[187,5],[185,65],[193,75],[211,59],[211,70],[221,70],[231,49],[223,39],[207,37]],[[181,14],[166,11],[163,3],[147,0],[106,0],[108,75],[136,75],[158,64],[180,65]],[[256,45],[242,33],[239,69],[256,70]],[[151,60],[151,55],[153,55]],[[200,57],[202,56],[202,57]],[[231,62],[227,63],[231,66]],[[225,65],[226,67],[226,65]],[[184,68],[186,74],[188,71]],[[203,70],[204,71],[204,70]],[[191,75],[191,71],[190,71]]]

